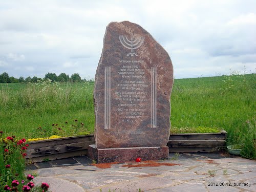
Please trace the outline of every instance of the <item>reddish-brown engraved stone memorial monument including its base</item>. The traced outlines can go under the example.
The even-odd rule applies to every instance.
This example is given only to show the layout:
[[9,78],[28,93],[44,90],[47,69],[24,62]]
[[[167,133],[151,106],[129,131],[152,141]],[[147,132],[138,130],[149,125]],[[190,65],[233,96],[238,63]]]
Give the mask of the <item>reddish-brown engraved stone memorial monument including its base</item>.
[[168,159],[173,66],[168,53],[137,24],[106,27],[95,75],[95,145],[99,163]]

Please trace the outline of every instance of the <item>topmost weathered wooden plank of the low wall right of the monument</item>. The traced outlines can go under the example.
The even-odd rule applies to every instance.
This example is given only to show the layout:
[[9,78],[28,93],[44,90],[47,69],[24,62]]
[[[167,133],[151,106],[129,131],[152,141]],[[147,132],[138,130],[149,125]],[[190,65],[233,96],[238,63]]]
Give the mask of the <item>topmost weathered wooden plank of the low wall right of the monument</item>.
[[192,139],[192,140],[220,140],[226,139],[225,133],[189,133],[189,134],[170,134],[169,140]]

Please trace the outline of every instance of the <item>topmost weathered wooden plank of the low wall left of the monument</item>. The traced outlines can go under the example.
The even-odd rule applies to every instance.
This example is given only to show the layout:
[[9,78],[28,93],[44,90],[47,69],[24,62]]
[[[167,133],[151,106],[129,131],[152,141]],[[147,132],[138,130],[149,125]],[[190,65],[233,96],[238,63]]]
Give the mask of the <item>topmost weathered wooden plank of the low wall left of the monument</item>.
[[76,137],[65,137],[65,138],[58,138],[58,139],[32,141],[32,142],[29,142],[28,149],[56,146],[56,145],[69,144],[74,142],[83,142],[83,141],[95,141],[94,135],[83,135],[83,136],[76,136]]

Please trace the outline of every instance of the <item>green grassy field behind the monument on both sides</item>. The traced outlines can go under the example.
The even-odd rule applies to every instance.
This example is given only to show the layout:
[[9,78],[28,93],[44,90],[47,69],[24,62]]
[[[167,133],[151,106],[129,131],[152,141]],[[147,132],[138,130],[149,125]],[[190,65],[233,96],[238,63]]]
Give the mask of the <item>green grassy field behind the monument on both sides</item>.
[[[228,143],[245,142],[244,152],[255,156],[255,82],[256,74],[175,79],[171,132],[218,127],[228,132]],[[94,123],[93,82],[0,84],[4,136],[87,134]]]

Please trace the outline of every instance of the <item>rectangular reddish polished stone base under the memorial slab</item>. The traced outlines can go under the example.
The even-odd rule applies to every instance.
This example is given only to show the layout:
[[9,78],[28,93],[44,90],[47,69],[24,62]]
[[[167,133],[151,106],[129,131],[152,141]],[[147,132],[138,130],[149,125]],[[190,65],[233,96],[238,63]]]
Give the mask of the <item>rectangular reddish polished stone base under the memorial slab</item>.
[[120,148],[96,148],[89,145],[88,157],[98,163],[135,161],[140,157],[145,160],[163,160],[169,157],[169,147],[120,147]]

